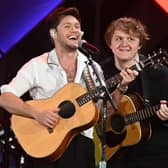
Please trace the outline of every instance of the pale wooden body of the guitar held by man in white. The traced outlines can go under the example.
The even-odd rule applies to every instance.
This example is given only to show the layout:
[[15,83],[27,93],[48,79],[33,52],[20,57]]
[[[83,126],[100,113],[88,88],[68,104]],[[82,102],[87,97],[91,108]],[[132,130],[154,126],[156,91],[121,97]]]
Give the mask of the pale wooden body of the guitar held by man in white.
[[66,101],[73,104],[74,113],[65,118],[61,117],[52,131],[34,119],[12,115],[12,129],[28,155],[35,158],[56,160],[63,154],[76,134],[90,128],[97,122],[98,111],[95,103],[89,101],[79,106],[76,101],[76,98],[84,93],[86,90],[81,85],[70,83],[49,99],[27,101],[28,104],[40,110],[56,108]]

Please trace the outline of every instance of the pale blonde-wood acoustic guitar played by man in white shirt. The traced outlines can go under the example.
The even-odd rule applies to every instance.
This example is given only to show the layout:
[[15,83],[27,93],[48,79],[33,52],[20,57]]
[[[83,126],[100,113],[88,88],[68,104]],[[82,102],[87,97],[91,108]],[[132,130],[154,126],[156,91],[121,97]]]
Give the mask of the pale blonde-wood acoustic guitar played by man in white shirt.
[[[166,57],[167,52],[160,50],[130,68],[141,71],[165,62]],[[106,81],[107,88],[115,87],[121,80],[120,74],[110,78]],[[19,144],[32,157],[58,159],[76,134],[96,124],[99,115],[94,100],[102,93],[104,86],[87,92],[80,84],[68,83],[51,98],[27,101],[40,110],[60,107],[61,119],[54,129],[48,129],[34,119],[13,114],[11,127]]]

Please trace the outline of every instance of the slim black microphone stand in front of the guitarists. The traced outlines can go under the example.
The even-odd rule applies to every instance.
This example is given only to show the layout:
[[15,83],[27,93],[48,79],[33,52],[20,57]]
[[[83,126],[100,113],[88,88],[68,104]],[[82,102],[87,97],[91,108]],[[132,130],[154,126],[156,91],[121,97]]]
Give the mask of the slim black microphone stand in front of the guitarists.
[[117,111],[117,107],[115,102],[112,99],[111,94],[109,93],[105,81],[103,79],[100,78],[98,71],[97,71],[97,67],[94,65],[93,63],[93,59],[92,59],[92,54],[87,50],[80,50],[82,51],[86,56],[88,56],[88,61],[89,61],[89,65],[91,65],[93,72],[95,73],[98,82],[100,83],[100,86],[103,87],[104,90],[104,94],[103,96],[100,96],[101,99],[103,99],[103,113],[102,113],[102,134],[101,134],[101,141],[102,141],[102,157],[101,157],[101,161],[99,162],[99,168],[106,168],[107,162],[106,162],[106,157],[105,157],[105,149],[106,149],[106,119],[107,119],[107,101],[110,102],[111,106],[113,107],[113,109],[115,111]]

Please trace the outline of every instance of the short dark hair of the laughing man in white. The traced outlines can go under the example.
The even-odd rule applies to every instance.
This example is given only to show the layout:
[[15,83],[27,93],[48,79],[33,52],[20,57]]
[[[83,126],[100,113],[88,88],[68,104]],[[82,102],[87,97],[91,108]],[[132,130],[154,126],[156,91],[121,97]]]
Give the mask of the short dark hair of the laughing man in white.
[[79,10],[76,7],[59,7],[46,18],[49,28],[57,29],[62,18],[68,15],[74,16],[81,23]]

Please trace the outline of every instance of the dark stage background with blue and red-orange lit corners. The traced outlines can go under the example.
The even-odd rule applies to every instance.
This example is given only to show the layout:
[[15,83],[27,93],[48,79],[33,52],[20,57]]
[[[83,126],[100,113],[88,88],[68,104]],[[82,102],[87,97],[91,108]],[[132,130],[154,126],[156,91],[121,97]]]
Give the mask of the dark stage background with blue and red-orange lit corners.
[[[106,27],[113,19],[123,16],[136,17],[147,26],[151,40],[143,54],[159,48],[168,49],[168,0],[1,0],[0,85],[9,82],[29,59],[51,49],[45,18],[61,5],[79,9],[84,39],[102,51],[93,58],[100,63],[110,61],[103,38]],[[4,136],[3,128],[9,125],[7,113],[1,111],[0,140]],[[10,158],[6,151],[1,155],[4,152],[2,144],[0,163],[5,160],[6,167],[17,167],[16,164],[8,165]],[[5,148],[9,150],[8,146]]]

